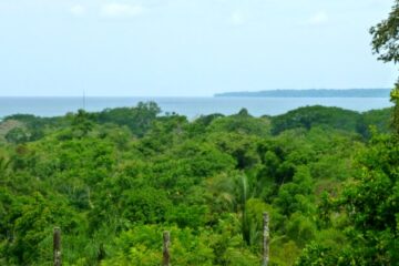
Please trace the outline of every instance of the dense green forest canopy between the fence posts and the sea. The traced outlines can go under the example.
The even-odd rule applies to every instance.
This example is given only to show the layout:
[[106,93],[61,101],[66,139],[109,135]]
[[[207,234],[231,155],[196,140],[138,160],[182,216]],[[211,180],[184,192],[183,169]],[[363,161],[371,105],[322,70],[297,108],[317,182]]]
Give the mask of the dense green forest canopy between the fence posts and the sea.
[[[155,103],[0,124],[0,264],[270,265],[398,262],[392,109],[278,116],[160,115]],[[372,263],[372,264],[370,264]],[[393,265],[393,264],[391,264]]]

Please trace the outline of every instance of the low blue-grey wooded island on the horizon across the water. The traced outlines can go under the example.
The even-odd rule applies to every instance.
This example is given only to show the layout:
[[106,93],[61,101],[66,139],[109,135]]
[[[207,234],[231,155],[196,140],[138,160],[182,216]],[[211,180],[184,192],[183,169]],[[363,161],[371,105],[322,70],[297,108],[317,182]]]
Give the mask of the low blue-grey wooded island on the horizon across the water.
[[215,98],[389,98],[390,89],[348,90],[273,90],[258,92],[226,92]]

